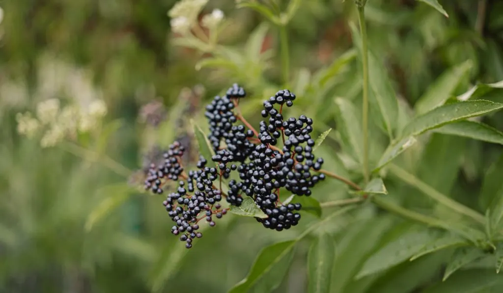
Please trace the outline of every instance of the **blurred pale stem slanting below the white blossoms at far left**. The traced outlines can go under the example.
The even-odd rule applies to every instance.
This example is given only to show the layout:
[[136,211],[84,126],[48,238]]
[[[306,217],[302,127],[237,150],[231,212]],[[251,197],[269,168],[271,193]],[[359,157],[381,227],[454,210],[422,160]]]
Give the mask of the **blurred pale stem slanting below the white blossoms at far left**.
[[79,145],[76,145],[74,143],[70,142],[63,142],[60,144],[60,147],[69,152],[74,154],[77,157],[80,157],[82,159],[88,160],[90,162],[99,162],[103,166],[109,168],[111,171],[124,176],[124,177],[129,177],[132,174],[132,171],[129,170],[126,166],[122,165],[121,163],[115,161],[114,159],[110,158],[109,156],[106,155],[100,155],[96,152],[90,151],[86,148],[83,148]]

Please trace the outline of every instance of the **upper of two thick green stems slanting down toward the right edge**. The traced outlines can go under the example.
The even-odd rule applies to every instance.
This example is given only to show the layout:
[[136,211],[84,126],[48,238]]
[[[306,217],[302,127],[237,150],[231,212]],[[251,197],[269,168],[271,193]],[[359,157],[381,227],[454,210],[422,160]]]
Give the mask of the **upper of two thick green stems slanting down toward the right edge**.
[[401,180],[405,181],[406,183],[416,187],[418,190],[423,191],[423,193],[425,193],[427,196],[429,196],[433,200],[437,201],[438,203],[452,209],[453,211],[456,211],[460,214],[468,216],[482,225],[485,225],[484,216],[479,214],[478,212],[452,200],[451,198],[447,197],[445,194],[442,194],[441,192],[437,191],[432,186],[426,184],[425,182],[421,181],[419,178],[415,177],[414,175],[410,174],[406,170],[404,170],[394,164],[389,164],[388,168],[395,176],[397,176]]

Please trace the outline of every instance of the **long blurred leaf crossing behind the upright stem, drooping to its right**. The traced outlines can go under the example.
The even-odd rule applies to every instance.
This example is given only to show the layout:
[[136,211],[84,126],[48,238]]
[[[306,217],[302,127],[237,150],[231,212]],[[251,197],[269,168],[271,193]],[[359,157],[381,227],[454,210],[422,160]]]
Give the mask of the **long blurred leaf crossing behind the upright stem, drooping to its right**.
[[[361,37],[354,25],[351,26],[354,44],[358,48],[360,59],[362,58]],[[396,128],[396,119],[398,118],[398,102],[396,93],[389,80],[388,73],[376,54],[369,50],[369,86],[372,90],[369,95],[370,104],[380,113],[384,130],[388,136],[393,138],[393,130]]]

